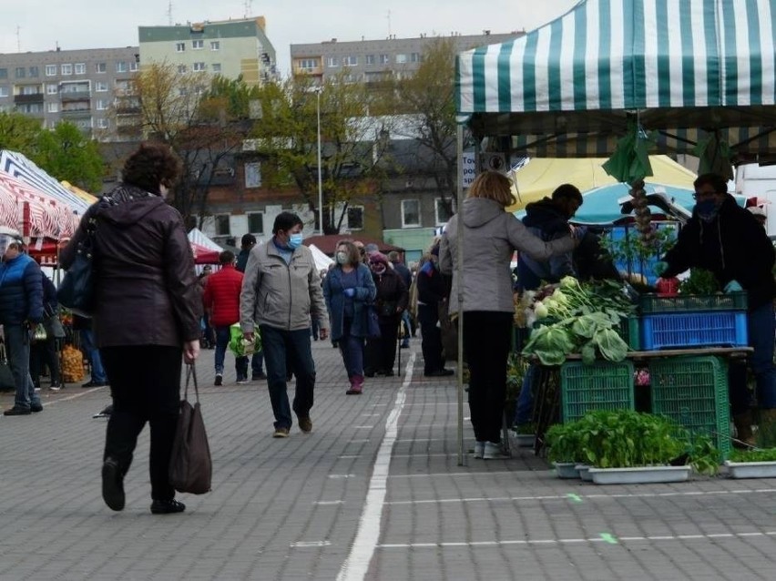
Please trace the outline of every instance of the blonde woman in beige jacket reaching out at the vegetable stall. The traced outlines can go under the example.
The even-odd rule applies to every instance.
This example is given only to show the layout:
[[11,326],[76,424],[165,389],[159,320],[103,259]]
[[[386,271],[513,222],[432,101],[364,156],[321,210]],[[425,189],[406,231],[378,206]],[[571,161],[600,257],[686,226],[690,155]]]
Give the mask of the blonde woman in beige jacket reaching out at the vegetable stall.
[[[475,429],[475,458],[499,458],[504,422],[506,366],[515,305],[509,263],[515,250],[534,260],[573,250],[569,235],[545,241],[531,234],[512,214],[511,183],[503,174],[485,171],[475,178],[461,210],[447,222],[440,244],[440,269],[453,275],[451,297],[463,286],[464,352],[469,365],[469,409]],[[463,260],[456,244],[464,228]]]

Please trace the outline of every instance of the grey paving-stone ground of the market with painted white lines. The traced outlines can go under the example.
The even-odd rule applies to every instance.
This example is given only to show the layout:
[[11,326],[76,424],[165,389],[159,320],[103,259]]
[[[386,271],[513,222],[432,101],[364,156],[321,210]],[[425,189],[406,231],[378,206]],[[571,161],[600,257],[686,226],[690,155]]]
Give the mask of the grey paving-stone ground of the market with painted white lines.
[[[213,490],[180,494],[182,515],[148,510],[148,430],[127,508],[103,504],[106,422],[91,416],[107,389],[44,389],[43,413],[0,417],[0,579],[776,575],[776,479],[596,486],[558,480],[516,448],[458,465],[454,381],[423,377],[419,340],[401,375],[368,379],[361,396],[345,395],[331,343],[314,342],[313,355],[313,431],[274,440],[266,382],[237,385],[228,367],[214,387],[213,352],[202,353]],[[468,421],[465,436],[471,445]]]

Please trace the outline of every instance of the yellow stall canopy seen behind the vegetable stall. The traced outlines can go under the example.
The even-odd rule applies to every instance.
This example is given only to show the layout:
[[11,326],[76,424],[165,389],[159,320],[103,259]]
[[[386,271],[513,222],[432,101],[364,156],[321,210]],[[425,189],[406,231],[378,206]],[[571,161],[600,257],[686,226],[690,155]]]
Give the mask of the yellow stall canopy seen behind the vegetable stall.
[[[688,168],[668,156],[649,156],[649,160],[654,175],[646,179],[648,183],[676,186],[691,192],[696,175]],[[573,184],[583,192],[618,183],[601,168],[604,161],[606,158],[531,158],[513,174],[519,196],[517,203],[507,211],[525,208],[526,204],[549,196],[562,183]]]

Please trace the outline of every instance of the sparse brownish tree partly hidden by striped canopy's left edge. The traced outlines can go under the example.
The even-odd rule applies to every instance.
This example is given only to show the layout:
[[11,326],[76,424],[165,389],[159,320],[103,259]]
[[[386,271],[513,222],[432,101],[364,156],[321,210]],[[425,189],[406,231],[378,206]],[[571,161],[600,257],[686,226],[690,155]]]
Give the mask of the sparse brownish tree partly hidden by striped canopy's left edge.
[[453,40],[434,40],[425,49],[415,75],[396,82],[394,95],[394,110],[410,119],[404,126],[404,137],[413,138],[418,156],[429,159],[436,189],[452,214],[458,175]]

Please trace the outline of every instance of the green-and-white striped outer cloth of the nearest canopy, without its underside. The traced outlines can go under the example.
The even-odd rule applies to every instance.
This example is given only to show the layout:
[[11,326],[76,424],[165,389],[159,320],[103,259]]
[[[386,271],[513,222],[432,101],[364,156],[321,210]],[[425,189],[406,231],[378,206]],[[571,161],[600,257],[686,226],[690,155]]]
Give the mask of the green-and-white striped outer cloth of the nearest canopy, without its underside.
[[458,111],[774,105],[774,0],[587,0],[458,57]]

